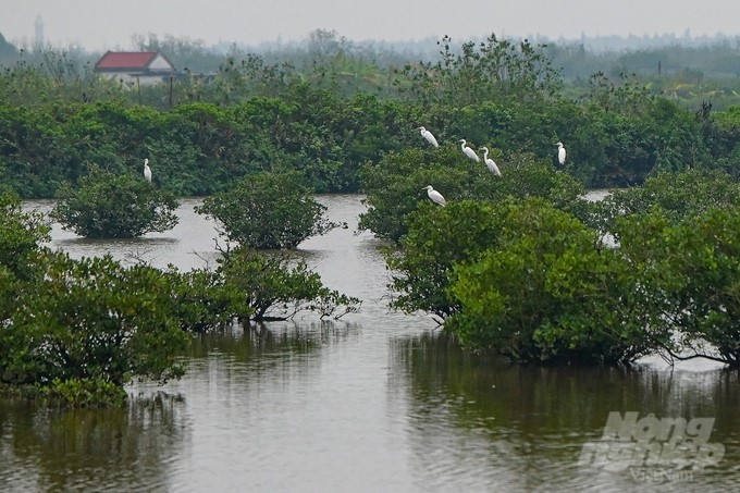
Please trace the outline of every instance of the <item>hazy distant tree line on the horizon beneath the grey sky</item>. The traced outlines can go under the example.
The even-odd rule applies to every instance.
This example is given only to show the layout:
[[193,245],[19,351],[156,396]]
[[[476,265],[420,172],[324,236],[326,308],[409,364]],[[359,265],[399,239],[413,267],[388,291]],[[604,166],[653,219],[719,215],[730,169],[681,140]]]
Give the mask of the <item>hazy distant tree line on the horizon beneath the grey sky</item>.
[[[508,37],[518,44],[521,38]],[[356,84],[355,90],[383,91],[384,81],[394,70],[407,63],[436,63],[441,60],[439,42],[432,38],[394,42],[353,41],[335,30],[314,29],[298,41],[263,42],[246,46],[236,42],[207,46],[203,41],[171,35],[137,34],[132,37],[133,50],[161,51],[175,67],[189,74],[215,74],[232,59],[237,62],[257,57],[270,65],[289,65],[306,74],[318,70],[325,74],[353,75],[367,84]],[[455,40],[456,53],[462,48]],[[473,38],[473,44],[485,39]],[[666,34],[662,36],[600,36],[579,39],[547,39],[535,37],[529,42],[541,45],[553,65],[562,69],[563,79],[574,94],[581,94],[589,77],[603,72],[618,78],[620,74],[636,74],[654,94],[665,94],[698,107],[711,100],[715,108],[725,109],[740,101],[737,47],[735,36],[716,35],[692,37]],[[58,72],[49,63],[49,53],[58,53],[75,65],[76,71],[91,71],[101,53],[87,52],[79,47],[32,46],[18,48],[0,34],[0,67],[12,67],[18,62]],[[351,89],[353,86],[347,86]]]

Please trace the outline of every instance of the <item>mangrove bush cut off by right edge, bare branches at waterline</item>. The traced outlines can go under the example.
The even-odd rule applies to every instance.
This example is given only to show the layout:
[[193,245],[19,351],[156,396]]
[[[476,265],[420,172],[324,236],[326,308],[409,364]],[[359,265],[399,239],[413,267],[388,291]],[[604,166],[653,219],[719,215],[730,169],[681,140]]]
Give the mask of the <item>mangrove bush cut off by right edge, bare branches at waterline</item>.
[[696,212],[680,221],[658,208],[617,221],[620,250],[640,270],[643,292],[661,303],[652,321],[674,330],[671,357],[740,366],[740,213]]

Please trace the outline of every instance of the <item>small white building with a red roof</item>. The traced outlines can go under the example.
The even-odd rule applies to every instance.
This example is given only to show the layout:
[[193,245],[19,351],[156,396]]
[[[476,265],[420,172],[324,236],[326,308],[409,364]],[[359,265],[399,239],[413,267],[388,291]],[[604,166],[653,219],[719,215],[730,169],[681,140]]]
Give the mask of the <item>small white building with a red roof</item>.
[[157,84],[169,81],[175,69],[159,51],[108,51],[95,64],[103,77],[126,84]]

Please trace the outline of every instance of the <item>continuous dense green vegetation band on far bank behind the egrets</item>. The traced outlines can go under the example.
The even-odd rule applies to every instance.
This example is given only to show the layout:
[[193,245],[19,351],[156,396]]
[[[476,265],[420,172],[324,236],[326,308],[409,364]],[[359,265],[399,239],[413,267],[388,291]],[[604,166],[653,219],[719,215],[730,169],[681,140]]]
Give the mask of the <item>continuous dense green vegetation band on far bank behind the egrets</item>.
[[562,140],[567,171],[587,187],[687,168],[736,173],[737,112],[713,112],[711,98],[687,109],[638,77],[603,72],[572,97],[546,47],[526,40],[445,38],[439,49],[435,62],[388,69],[382,90],[332,57],[300,70],[233,53],[212,77],[186,72],[172,88],[139,90],[63,56],[46,62],[51,73],[21,62],[0,74],[0,184],[52,197],[92,165],[121,174],[146,156],[175,195],[210,195],[262,171],[357,192],[367,164],[424,148],[419,125],[443,147],[488,144],[503,165],[521,155],[552,162]]

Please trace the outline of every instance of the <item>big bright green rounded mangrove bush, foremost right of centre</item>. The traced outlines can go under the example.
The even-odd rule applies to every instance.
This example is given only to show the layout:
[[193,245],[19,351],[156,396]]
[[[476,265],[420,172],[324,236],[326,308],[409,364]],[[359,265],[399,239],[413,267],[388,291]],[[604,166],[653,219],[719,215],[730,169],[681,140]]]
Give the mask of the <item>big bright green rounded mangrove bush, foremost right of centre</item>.
[[667,332],[629,263],[572,215],[542,201],[513,206],[501,237],[480,260],[455,268],[461,304],[446,328],[472,348],[517,361],[626,363]]

